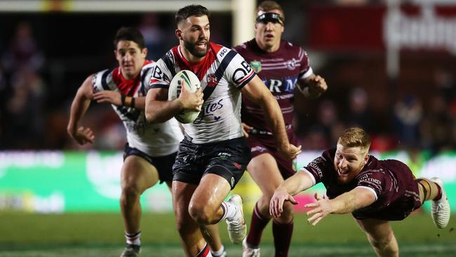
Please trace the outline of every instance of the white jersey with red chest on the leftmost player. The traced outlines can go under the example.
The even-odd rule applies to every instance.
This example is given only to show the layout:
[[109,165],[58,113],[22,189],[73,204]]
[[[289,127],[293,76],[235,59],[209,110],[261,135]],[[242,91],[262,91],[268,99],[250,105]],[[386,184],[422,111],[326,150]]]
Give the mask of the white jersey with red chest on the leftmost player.
[[[118,68],[103,70],[93,77],[93,91],[111,90],[123,95],[142,97],[147,93],[148,83],[154,63],[145,62],[140,76],[126,80]],[[119,115],[127,131],[127,141],[130,147],[135,147],[151,157],[160,157],[177,152],[183,135],[179,123],[170,119],[160,124],[149,124],[146,121],[145,111],[130,107],[112,105]]]

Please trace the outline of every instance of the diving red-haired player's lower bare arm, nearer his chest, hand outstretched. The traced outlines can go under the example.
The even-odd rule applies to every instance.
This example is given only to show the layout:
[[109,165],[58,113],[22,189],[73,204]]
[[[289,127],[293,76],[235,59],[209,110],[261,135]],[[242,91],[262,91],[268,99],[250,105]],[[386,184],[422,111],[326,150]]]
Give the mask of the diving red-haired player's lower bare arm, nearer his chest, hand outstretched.
[[373,190],[368,190],[365,187],[355,187],[353,190],[345,192],[334,199],[328,199],[326,197],[321,198],[318,197],[318,195],[315,195],[315,198],[317,202],[305,205],[307,208],[314,208],[307,211],[307,216],[311,216],[307,221],[312,225],[316,225],[316,223],[330,213],[352,213],[373,204],[377,199],[375,192],[373,192]]

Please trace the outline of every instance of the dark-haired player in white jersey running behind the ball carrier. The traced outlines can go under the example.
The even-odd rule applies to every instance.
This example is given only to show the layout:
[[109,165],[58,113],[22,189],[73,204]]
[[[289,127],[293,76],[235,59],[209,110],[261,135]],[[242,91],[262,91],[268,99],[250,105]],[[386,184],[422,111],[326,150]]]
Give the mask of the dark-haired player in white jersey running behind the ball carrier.
[[[139,256],[140,195],[156,183],[173,178],[177,148],[183,135],[175,119],[161,124],[148,124],[145,119],[145,95],[149,89],[154,63],[146,60],[147,48],[138,29],[122,27],[114,37],[114,55],[119,67],[90,75],[74,97],[68,133],[79,144],[93,143],[95,136],[87,127],[79,126],[90,100],[111,103],[123,121],[127,141],[121,169],[121,211],[125,226],[126,248],[121,256]],[[226,255],[216,226],[205,228],[204,235],[211,249]]]

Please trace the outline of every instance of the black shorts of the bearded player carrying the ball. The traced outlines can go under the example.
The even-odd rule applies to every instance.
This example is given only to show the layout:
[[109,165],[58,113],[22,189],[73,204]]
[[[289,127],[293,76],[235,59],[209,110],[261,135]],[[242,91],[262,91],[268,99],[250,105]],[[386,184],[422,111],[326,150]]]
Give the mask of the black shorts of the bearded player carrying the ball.
[[233,189],[250,162],[246,138],[195,144],[184,138],[173,166],[173,180],[199,185],[207,173],[226,179]]

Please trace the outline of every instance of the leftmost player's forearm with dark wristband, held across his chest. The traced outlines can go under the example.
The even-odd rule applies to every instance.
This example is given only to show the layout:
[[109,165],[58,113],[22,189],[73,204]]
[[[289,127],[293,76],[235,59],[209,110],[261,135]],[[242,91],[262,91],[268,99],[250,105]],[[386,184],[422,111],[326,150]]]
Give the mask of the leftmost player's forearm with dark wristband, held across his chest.
[[103,90],[93,94],[93,100],[97,103],[111,103],[116,106],[133,107],[138,110],[144,110],[146,106],[146,97],[140,96],[133,98],[131,96],[123,96],[120,92]]

